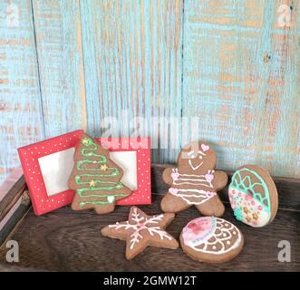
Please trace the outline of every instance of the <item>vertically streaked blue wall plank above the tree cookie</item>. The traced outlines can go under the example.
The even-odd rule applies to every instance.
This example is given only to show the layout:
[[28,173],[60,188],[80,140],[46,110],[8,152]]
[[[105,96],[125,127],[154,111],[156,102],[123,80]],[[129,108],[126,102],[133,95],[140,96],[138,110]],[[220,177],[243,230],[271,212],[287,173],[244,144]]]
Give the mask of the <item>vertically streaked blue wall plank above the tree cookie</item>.
[[180,145],[182,8],[174,0],[81,2],[89,131],[150,134],[157,162],[176,160]]

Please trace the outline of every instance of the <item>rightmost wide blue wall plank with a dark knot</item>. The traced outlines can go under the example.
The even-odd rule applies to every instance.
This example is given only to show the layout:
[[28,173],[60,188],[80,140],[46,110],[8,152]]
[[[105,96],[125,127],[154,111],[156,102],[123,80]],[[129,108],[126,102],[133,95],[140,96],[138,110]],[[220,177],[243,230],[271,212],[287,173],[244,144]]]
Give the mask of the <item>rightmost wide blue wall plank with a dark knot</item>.
[[199,117],[187,139],[215,143],[220,168],[248,162],[300,177],[299,8],[184,2],[183,119]]

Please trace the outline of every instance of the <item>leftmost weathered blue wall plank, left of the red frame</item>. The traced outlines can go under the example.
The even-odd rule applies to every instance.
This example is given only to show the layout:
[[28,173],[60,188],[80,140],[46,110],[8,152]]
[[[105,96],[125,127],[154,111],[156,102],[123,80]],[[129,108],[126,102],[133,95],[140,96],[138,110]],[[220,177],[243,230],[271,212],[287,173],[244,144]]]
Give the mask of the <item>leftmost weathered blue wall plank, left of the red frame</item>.
[[0,1],[0,181],[16,148],[44,138],[30,0]]

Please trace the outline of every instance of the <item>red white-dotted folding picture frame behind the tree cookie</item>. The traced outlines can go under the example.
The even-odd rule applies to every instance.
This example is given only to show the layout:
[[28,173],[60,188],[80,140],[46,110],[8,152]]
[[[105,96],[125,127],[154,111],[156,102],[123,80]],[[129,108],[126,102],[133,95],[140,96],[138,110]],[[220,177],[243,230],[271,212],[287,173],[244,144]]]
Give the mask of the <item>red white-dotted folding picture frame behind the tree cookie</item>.
[[[65,188],[65,190],[55,192],[52,195],[48,194],[49,188],[47,191],[47,182],[44,179],[44,174],[41,169],[41,159],[68,150],[68,162],[70,162],[71,150],[74,151],[82,132],[81,130],[73,131],[18,149],[24,170],[24,178],[28,186],[35,215],[41,216],[54,209],[62,208],[72,203],[75,195],[73,189]],[[109,149],[111,152],[136,152],[136,189],[132,190],[131,196],[128,198],[119,200],[117,205],[131,206],[150,204],[150,138],[111,138],[98,140],[101,141],[103,147]],[[63,157],[60,156],[60,158],[62,159]],[[61,160],[61,162],[62,161],[63,160]],[[47,163],[45,164],[45,166],[47,166]],[[63,177],[65,183],[64,187],[67,187],[66,180],[68,178],[69,176]]]

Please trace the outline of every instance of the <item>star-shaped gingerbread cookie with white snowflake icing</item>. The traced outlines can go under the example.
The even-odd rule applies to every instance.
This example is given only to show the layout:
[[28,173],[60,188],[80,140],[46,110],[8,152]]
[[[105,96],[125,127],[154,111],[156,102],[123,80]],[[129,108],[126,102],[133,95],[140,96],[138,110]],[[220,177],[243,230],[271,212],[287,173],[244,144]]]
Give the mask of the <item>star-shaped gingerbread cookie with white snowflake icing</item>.
[[126,240],[126,258],[132,259],[146,247],[179,247],[177,240],[164,229],[175,218],[172,213],[147,216],[140,208],[131,207],[129,219],[102,228],[102,235]]

